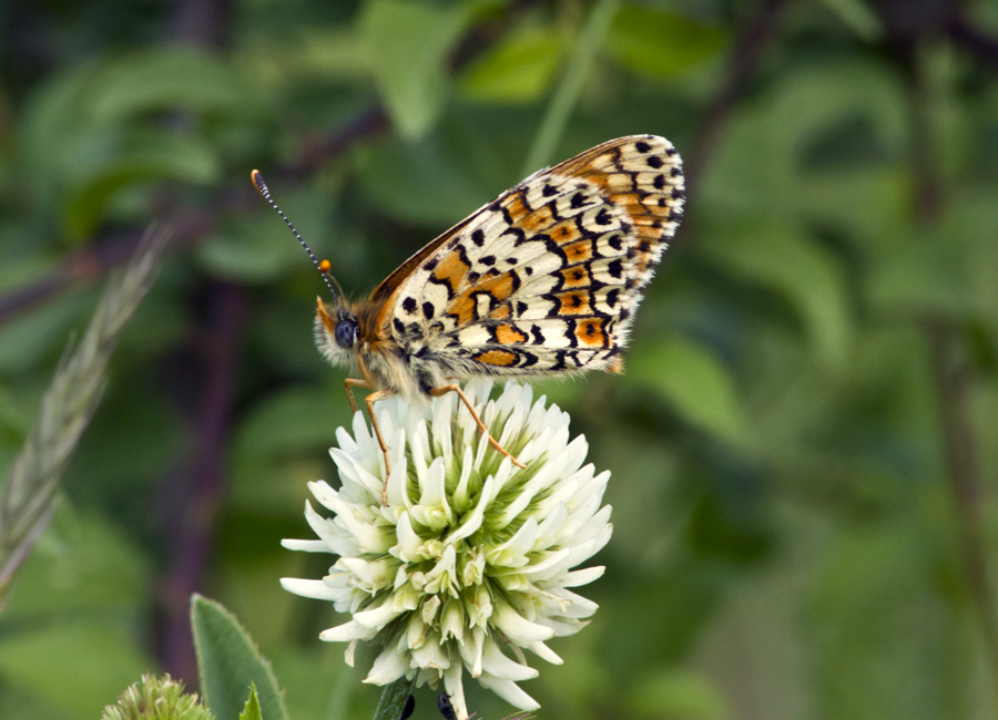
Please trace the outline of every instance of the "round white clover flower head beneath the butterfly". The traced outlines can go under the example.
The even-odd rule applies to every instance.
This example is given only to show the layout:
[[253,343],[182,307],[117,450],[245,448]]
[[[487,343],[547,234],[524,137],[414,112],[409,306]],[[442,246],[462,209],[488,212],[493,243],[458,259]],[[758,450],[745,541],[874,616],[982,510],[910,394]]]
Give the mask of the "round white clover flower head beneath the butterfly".
[[377,405],[391,466],[387,504],[383,455],[358,412],[353,436],[338,429],[330,450],[343,486],[309,483],[334,515],[306,502],[319,539],[283,542],[339,555],[320,580],[281,580],[352,614],[319,637],[349,642],[349,665],[358,641],[377,640],[384,649],[365,682],[442,679],[461,720],[465,669],[511,704],[539,707],[516,685],[538,675],[523,649],[561,664],[544,641],[577,632],[597,609],[569,588],[603,574],[571,568],[611,532],[610,506],[600,506],[610,473],[582,466],[588,445],[581,435],[569,441],[568,413],[543,398],[531,407],[530,388],[516,383],[486,402],[490,388],[475,381],[465,392],[526,470],[489,446],[454,393],[421,407],[390,398]]

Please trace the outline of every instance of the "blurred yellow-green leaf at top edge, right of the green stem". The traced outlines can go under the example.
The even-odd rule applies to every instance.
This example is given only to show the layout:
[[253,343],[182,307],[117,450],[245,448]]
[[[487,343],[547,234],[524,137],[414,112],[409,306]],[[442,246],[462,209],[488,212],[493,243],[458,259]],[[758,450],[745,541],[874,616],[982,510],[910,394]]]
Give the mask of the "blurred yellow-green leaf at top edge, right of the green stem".
[[622,65],[655,78],[669,78],[721,52],[724,31],[680,16],[625,6],[613,19],[604,44]]

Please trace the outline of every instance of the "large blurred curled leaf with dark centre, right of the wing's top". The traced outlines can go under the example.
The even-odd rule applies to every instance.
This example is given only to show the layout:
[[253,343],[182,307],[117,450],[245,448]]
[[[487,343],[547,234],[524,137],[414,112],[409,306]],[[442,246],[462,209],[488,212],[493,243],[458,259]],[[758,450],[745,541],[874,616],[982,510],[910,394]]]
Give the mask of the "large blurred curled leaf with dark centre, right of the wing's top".
[[[896,73],[873,62],[795,66],[732,115],[704,173],[699,204],[714,216],[755,216],[765,208],[781,222],[798,222],[806,213],[858,237],[894,232],[910,210],[905,92]],[[828,138],[857,123],[876,152],[846,167],[815,167],[813,158]]]

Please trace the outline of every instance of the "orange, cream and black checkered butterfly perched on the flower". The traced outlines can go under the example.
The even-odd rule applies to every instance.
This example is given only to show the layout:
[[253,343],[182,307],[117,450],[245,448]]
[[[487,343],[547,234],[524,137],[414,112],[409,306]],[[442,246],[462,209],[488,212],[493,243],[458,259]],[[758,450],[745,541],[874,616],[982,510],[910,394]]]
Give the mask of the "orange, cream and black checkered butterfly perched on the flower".
[[[318,263],[271,198],[253,182]],[[455,392],[489,444],[518,466],[458,381],[619,373],[634,311],[683,213],[682,161],[664,137],[631,135],[542,169],[483,205],[389,275],[367,300],[318,300],[315,337],[374,403]]]

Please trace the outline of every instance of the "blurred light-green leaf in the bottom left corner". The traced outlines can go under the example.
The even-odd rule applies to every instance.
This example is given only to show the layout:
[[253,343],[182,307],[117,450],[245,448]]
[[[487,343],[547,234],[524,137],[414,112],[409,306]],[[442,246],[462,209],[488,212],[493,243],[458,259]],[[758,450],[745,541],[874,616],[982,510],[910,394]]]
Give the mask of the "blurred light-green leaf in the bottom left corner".
[[7,632],[0,642],[0,677],[50,704],[83,719],[104,706],[143,672],[155,667],[128,637],[104,624],[74,623]]

